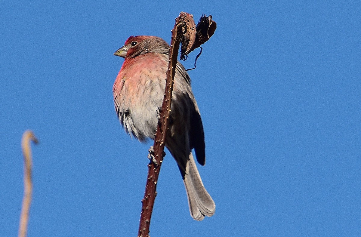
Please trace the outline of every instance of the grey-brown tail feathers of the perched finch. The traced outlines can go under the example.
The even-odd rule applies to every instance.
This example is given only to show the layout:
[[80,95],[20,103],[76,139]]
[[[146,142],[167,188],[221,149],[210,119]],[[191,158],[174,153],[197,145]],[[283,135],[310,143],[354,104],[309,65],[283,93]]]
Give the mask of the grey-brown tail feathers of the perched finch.
[[[180,168],[182,176],[184,170]],[[204,188],[192,153],[186,164],[184,186],[186,187],[189,211],[193,219],[203,220],[204,216],[212,216],[216,211],[216,204]]]

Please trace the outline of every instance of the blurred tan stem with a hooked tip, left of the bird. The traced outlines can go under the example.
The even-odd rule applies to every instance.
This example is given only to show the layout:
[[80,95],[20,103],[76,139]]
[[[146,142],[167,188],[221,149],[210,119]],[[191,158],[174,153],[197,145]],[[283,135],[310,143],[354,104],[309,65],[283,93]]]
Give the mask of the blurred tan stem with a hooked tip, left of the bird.
[[21,148],[24,156],[24,197],[21,208],[20,223],[19,223],[19,237],[25,237],[27,232],[27,223],[29,222],[29,209],[31,203],[32,194],[32,180],[31,180],[31,169],[32,169],[32,158],[30,141],[35,144],[38,143],[34,133],[27,130],[23,133],[21,139]]

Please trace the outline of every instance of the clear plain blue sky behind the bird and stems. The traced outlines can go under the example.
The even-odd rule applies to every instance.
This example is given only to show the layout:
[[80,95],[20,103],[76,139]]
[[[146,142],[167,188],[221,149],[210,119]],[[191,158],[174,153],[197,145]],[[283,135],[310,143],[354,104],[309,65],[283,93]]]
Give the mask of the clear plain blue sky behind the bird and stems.
[[[217,22],[189,72],[200,173],[217,209],[192,220],[168,154],[151,236],[361,235],[360,1],[1,1],[0,236],[16,236],[31,129],[28,236],[136,236],[151,144],[113,107],[130,35],[170,41],[179,12]],[[198,50],[184,62],[192,67]]]

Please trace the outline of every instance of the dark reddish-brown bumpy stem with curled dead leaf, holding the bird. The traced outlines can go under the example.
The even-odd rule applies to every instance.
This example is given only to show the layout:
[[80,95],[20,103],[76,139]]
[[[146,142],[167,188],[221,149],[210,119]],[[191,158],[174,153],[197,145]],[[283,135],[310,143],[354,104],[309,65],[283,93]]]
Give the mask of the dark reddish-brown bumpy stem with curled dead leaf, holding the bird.
[[[201,26],[196,30],[196,25],[193,20],[193,16],[188,13],[181,12],[179,16],[175,19],[175,25],[171,36],[170,48],[169,48],[169,64],[168,70],[166,73],[166,86],[164,92],[163,104],[160,110],[160,118],[158,121],[157,132],[154,139],[154,157],[155,162],[152,161],[148,164],[148,178],[147,184],[145,185],[145,193],[144,198],[142,199],[142,212],[140,213],[140,221],[139,221],[139,237],[148,237],[149,236],[149,226],[151,223],[151,216],[153,211],[153,205],[156,197],[156,187],[158,182],[158,175],[160,171],[160,166],[163,161],[163,151],[165,145],[165,138],[168,132],[168,120],[170,115],[170,106],[172,100],[172,91],[173,91],[173,79],[175,75],[175,68],[177,65],[177,56],[178,49],[180,43],[182,43],[181,55],[185,56],[189,52],[191,52],[194,47],[193,45],[198,45],[199,47],[205,41],[209,39],[210,36],[213,35],[214,30],[216,30],[216,23],[212,21],[212,16],[206,17],[202,16],[200,22],[203,25],[204,21],[202,19],[207,18],[210,25],[213,24],[212,27],[206,26],[207,29],[204,30],[204,26]],[[207,20],[205,20],[207,21]],[[211,29],[209,31],[209,28]],[[200,35],[203,35],[205,32],[206,37],[199,37],[198,31]],[[211,32],[212,31],[212,32]],[[205,39],[206,38],[206,39]],[[198,40],[197,40],[198,39]]]

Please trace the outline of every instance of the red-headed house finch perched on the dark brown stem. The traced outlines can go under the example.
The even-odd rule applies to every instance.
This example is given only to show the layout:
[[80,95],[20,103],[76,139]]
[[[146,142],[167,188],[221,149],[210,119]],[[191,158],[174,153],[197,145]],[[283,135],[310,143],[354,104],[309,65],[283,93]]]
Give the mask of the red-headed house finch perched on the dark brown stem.
[[[114,55],[125,58],[113,86],[118,118],[125,131],[139,141],[154,140],[157,110],[164,97],[169,45],[156,36],[130,36]],[[178,62],[165,146],[181,171],[192,218],[203,220],[214,214],[216,205],[203,186],[191,152],[194,148],[197,161],[205,164],[203,125],[190,83]]]

